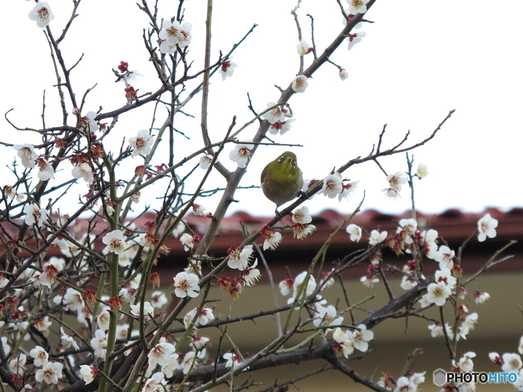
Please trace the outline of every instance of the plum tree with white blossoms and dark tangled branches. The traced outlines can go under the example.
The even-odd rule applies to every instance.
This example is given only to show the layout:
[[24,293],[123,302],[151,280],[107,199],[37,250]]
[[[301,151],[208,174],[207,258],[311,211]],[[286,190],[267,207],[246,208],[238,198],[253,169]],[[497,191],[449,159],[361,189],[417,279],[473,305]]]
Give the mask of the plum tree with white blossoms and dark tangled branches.
[[[204,32],[192,31],[185,19],[183,0],[178,2],[176,15],[164,18],[158,18],[159,2],[151,8],[142,0],[138,8],[146,17],[144,23],[149,24],[149,28],[142,28],[143,45],[157,85],[152,93],[143,94],[139,87],[140,78],[145,76],[132,70],[128,62],[107,66],[106,72],[116,76],[116,83],[122,82],[121,96],[114,102],[116,109],[104,111],[99,107],[89,111],[85,108],[97,107],[90,103],[90,91],[104,86],[93,81],[89,84],[93,87],[85,90],[77,102],[79,90],[71,76],[84,56],[71,61],[62,47],[64,38],[72,34],[71,26],[82,17],[80,3],[73,1],[71,16],[58,39],[53,35],[57,30],[48,3],[37,2],[29,13],[29,19],[36,21],[49,44],[58,113],[45,110],[44,98],[41,129],[20,126],[20,120],[13,118],[13,109],[5,114],[16,132],[30,132],[38,143],[31,144],[29,139],[24,144],[0,142],[5,151],[16,154],[8,167],[10,175],[3,177],[4,181],[11,181],[10,185],[1,190],[0,385],[4,390],[205,391],[222,384],[233,388],[235,377],[243,372],[322,359],[328,368],[335,368],[372,390],[415,391],[424,382],[424,372],[405,371],[397,379],[384,373],[376,380],[349,366],[351,361],[365,360],[374,338],[374,326],[399,317],[434,321],[431,333],[447,345],[454,361],[452,369],[466,372],[470,368],[471,353],[457,359],[459,339],[464,339],[477,322],[477,314],[469,313],[464,302],[465,286],[506,260],[507,257],[501,257],[505,248],[486,261],[481,271],[461,276],[461,254],[474,235],[456,256],[448,246],[438,243],[445,244],[434,228],[418,227],[415,219],[414,183],[427,175],[427,167],[418,165],[413,173],[414,160],[407,156],[407,178],[401,171],[387,174],[384,169],[386,157],[411,151],[433,139],[453,111],[428,137],[411,145],[406,145],[410,136],[407,133],[384,149],[384,127],[370,154],[342,163],[323,179],[303,181],[302,191],[293,194],[298,199],[278,216],[253,234],[245,229],[241,244],[230,244],[217,257],[208,255],[236,190],[245,188],[240,187],[240,181],[253,155],[282,145],[277,143],[278,136],[291,132],[295,120],[290,105],[293,95],[306,93],[309,78],[324,64],[336,66],[340,79],[348,78],[348,72],[329,56],[343,42],[351,50],[362,41],[366,34],[359,28],[362,22],[368,22],[363,16],[374,0],[348,0],[347,9],[340,7],[344,26],[323,50],[314,38],[317,25],[313,26],[311,14],[306,16],[311,19],[312,47],[301,30],[298,2],[292,15],[299,36],[299,74],[290,75],[288,87],[279,88],[279,97],[263,110],[254,108],[249,97],[254,118],[240,122],[231,113],[232,121],[220,124],[221,135],[212,135],[218,141],[211,139],[207,124],[208,101],[213,94],[211,80],[217,73],[224,82],[234,77],[240,65],[232,61],[232,53],[256,25],[229,51],[220,51],[213,58],[211,0],[207,3]],[[189,15],[190,9],[187,11]],[[206,37],[201,52],[191,44],[193,33]],[[235,60],[240,63],[242,55],[238,57],[240,60]],[[198,58],[203,59],[203,65],[195,70]],[[200,123],[195,127],[198,131],[195,133],[190,126],[177,129],[180,114],[185,116],[183,110],[200,93]],[[122,129],[119,119],[130,112],[138,113],[149,103],[154,103],[152,117],[146,125],[137,126],[127,139],[128,129]],[[104,123],[105,119],[111,119],[110,123]],[[256,120],[258,126],[253,129],[251,125]],[[240,133],[248,136],[240,140]],[[201,134],[201,140],[190,140],[190,149],[183,148],[176,137],[188,138],[189,134]],[[163,140],[169,142],[167,155],[162,155]],[[226,162],[223,152],[230,146],[234,147],[229,150],[230,162]],[[386,175],[388,185],[384,192],[388,197],[398,197],[402,186],[408,183],[413,217],[398,222],[395,233],[379,228],[369,232],[351,222],[360,211],[362,200],[310,258],[308,268],[278,284],[274,282],[266,256],[284,240],[282,233],[292,230],[293,237],[300,240],[314,235],[316,227],[302,204],[320,192],[328,199],[348,198],[359,181],[350,182],[342,174],[366,162],[378,164]],[[222,183],[213,191],[205,190],[213,170],[220,173]],[[214,211],[207,211],[200,204],[201,199],[217,192],[221,192],[221,201]],[[71,206],[77,202],[78,206]],[[143,222],[142,216],[151,210],[155,217]],[[187,219],[190,213],[207,220],[203,232],[191,226]],[[280,218],[285,215],[291,215],[292,224],[280,225]],[[478,240],[494,237],[496,226],[492,217],[483,217],[478,223]],[[352,241],[360,241],[366,233],[368,244],[331,267],[329,246],[344,231]],[[169,255],[167,245],[173,237],[179,238],[178,246],[187,252],[187,266],[165,279],[156,272],[156,266]],[[407,253],[412,259],[399,270],[389,266],[390,261],[384,261],[388,257],[386,249],[397,256]],[[263,261],[265,272],[262,263],[258,266],[258,259]],[[439,269],[434,276],[425,278],[424,266],[430,260],[438,262]],[[344,305],[327,299],[335,280],[343,284],[343,274],[355,268],[366,269],[361,278],[363,286],[381,282],[389,301],[377,309],[367,309],[373,295],[349,301],[345,294]],[[243,292],[256,290],[262,274],[271,277],[274,307],[240,317],[214,316],[214,301],[234,306],[241,301]],[[400,288],[405,292],[401,295],[395,295],[397,289],[389,281],[395,274],[402,275]],[[172,283],[170,289],[166,280]],[[224,297],[218,299],[214,288],[220,289]],[[286,305],[279,305],[280,296],[285,297]],[[488,299],[488,294],[477,292],[474,298],[480,304]],[[420,308],[416,309],[418,302]],[[451,323],[447,324],[444,312],[437,321],[425,314],[435,306],[452,308],[455,317]],[[364,310],[367,316],[358,319],[356,310]],[[259,339],[254,353],[246,354],[247,349],[228,326],[267,315],[277,315],[277,325],[271,326],[276,333],[267,341]],[[210,344],[210,330],[220,332],[218,347]],[[496,361],[506,368],[518,365],[514,355],[503,355],[503,360],[498,357]]]

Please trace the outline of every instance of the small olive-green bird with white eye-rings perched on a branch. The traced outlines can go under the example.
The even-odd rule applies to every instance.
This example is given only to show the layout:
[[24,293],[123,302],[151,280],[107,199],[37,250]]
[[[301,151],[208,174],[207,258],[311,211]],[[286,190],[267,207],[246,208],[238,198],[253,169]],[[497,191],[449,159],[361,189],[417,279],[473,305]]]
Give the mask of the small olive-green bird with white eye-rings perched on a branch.
[[276,216],[282,218],[278,207],[298,197],[303,186],[303,176],[296,155],[290,151],[278,156],[261,172],[261,189],[270,201],[276,203]]

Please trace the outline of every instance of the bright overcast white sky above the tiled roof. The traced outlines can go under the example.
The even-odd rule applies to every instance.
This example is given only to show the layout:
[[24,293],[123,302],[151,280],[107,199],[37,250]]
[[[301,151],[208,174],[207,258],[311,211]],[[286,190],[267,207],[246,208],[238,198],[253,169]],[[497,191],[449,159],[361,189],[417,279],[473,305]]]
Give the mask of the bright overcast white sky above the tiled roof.
[[[170,18],[175,9],[169,9],[167,4],[176,2],[164,3],[160,17]],[[185,18],[193,26],[189,57],[194,60],[195,71],[203,63],[204,3],[185,3]],[[4,37],[0,111],[5,113],[14,108],[9,118],[18,126],[40,128],[43,89],[47,90],[48,126],[61,124],[61,111],[52,87],[55,80],[48,44],[36,23],[27,16],[33,4],[22,0],[9,2],[8,17],[0,25]],[[58,37],[69,19],[72,2],[51,0],[49,4],[55,15],[50,26]],[[69,66],[85,53],[72,75],[78,100],[87,88],[98,84],[89,94],[84,112],[96,111],[99,106],[108,111],[124,105],[124,86],[113,83],[115,76],[111,72],[120,60],[128,61],[131,69],[144,75],[133,84],[140,93],[155,91],[159,86],[141,39],[147,18],[134,2],[126,2],[125,7],[122,4],[84,0],[62,43]],[[214,59],[219,50],[228,52],[254,23],[259,25],[234,53],[233,61],[238,66],[233,77],[222,82],[216,75],[211,81],[209,125],[214,142],[221,140],[233,115],[238,117],[238,124],[252,118],[247,109],[247,92],[256,110],[262,111],[267,102],[279,97],[274,85],[286,87],[298,72],[299,56],[295,49],[298,39],[290,15],[294,5],[294,0],[214,1]],[[259,185],[265,164],[287,149],[297,154],[305,178],[324,177],[333,167],[367,155],[383,124],[388,124],[384,147],[397,143],[407,130],[411,130],[410,141],[415,143],[428,136],[451,109],[456,109],[435,139],[414,152],[416,165],[424,163],[429,170],[428,177],[416,184],[418,209],[439,212],[459,207],[464,211],[481,211],[486,206],[503,209],[521,206],[518,173],[523,145],[520,119],[523,3],[504,2],[501,7],[501,10],[496,7],[494,13],[492,2],[486,1],[461,0],[449,5],[440,1],[378,0],[366,15],[375,23],[362,28],[367,33],[365,39],[351,51],[347,51],[344,42],[331,57],[348,70],[349,78],[342,82],[337,68],[325,64],[309,81],[306,92],[291,98],[297,121],[287,134],[272,139],[303,147],[259,149],[242,185]],[[321,52],[342,30],[342,16],[335,0],[304,0],[299,16],[304,38],[309,43],[308,13],[314,16],[316,48]],[[311,61],[312,54],[305,57],[305,65]],[[129,138],[149,128],[152,109],[150,104],[120,117],[111,139],[115,149],[119,149],[122,136]],[[201,147],[199,96],[186,111],[196,119],[180,117],[177,122],[177,128],[191,137],[190,142],[177,137],[177,159]],[[3,141],[31,141],[32,135],[13,132],[5,120],[0,129]],[[251,139],[255,132],[253,125],[239,137]],[[36,144],[38,140],[32,142]],[[163,143],[167,151],[167,139]],[[15,156],[12,148],[0,148],[2,162]],[[232,170],[235,164],[228,159],[230,149],[232,145],[226,148],[221,162]],[[131,160],[127,160],[127,168],[122,168],[122,177],[143,162],[139,157]],[[158,155],[153,164],[161,162]],[[406,170],[404,155],[384,158],[380,163],[388,173]],[[64,166],[61,176],[68,178],[71,166],[69,163]],[[189,166],[192,167],[188,165],[184,170],[189,170]],[[14,182],[5,166],[0,170],[0,185]],[[351,168],[344,176],[360,180],[359,192],[342,203],[316,197],[306,203],[311,211],[335,208],[351,212],[363,189],[367,194],[364,209],[403,212],[410,206],[406,188],[399,200],[385,198],[381,191],[387,185],[385,176],[375,164]],[[211,177],[214,185],[210,183],[206,189],[223,185],[217,173]],[[186,190],[190,187],[191,184]],[[84,190],[81,184],[78,193],[83,194]],[[144,199],[154,198],[157,193],[157,189],[145,193]],[[256,215],[274,211],[274,204],[259,189],[238,191],[236,199],[240,202],[230,211],[247,210]],[[197,202],[212,211],[217,201],[209,198]],[[70,204],[62,206],[65,210],[72,208]]]

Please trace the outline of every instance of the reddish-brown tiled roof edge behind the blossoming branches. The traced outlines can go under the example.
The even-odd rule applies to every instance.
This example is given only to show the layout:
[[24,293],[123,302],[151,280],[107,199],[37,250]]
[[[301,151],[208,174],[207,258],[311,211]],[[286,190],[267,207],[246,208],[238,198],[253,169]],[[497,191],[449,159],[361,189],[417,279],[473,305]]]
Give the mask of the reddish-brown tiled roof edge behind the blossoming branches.
[[[506,212],[495,208],[488,208],[485,211],[479,213],[465,213],[458,209],[449,209],[439,214],[427,214],[427,213],[416,213],[418,221],[418,227],[420,229],[434,228],[438,230],[439,235],[444,238],[448,245],[457,251],[461,243],[469,236],[473,235],[477,221],[486,213],[490,213],[493,218],[496,218],[499,222],[497,227],[497,236],[492,239],[487,239],[484,243],[479,243],[475,238],[470,241],[467,252],[464,253],[464,257],[470,258],[471,260],[477,259],[479,262],[485,259],[487,255],[491,255],[494,251],[501,248],[510,240],[519,240],[519,243],[514,245],[508,251],[509,253],[516,253],[521,256],[523,253],[523,208],[513,208]],[[343,221],[349,216],[337,212],[335,210],[324,210],[319,214],[312,216],[312,224],[316,226],[316,231],[303,240],[294,239],[292,237],[292,229],[287,228],[282,230],[284,237],[283,241],[279,245],[278,249],[274,251],[267,251],[265,256],[267,259],[278,259],[285,261],[282,265],[299,264],[301,268],[304,268],[304,263],[310,261],[315,253],[324,244],[325,240]],[[359,226],[367,229],[369,232],[372,229],[380,228],[380,230],[387,230],[388,232],[395,231],[397,227],[397,221],[402,218],[411,217],[411,211],[405,211],[400,215],[384,214],[377,210],[366,210],[361,211],[353,217],[351,223],[358,224]],[[138,230],[145,230],[145,222],[153,221],[155,218],[154,213],[146,213],[137,218],[134,221]],[[254,233],[263,227],[267,222],[272,219],[272,216],[256,216],[248,212],[235,212],[232,215],[225,217],[220,225],[219,235],[215,238],[213,244],[209,249],[209,255],[214,257],[223,257],[226,255],[226,249],[232,245],[240,245],[243,241],[240,221],[243,222],[244,226],[249,233]],[[191,226],[196,234],[202,235],[210,223],[210,219],[203,216],[195,216],[192,213],[185,217],[185,221]],[[292,225],[290,216],[286,216],[279,225]],[[85,230],[87,227],[87,221],[78,221],[76,225],[79,226],[79,231]],[[13,227],[4,224],[4,227],[12,232]],[[101,225],[99,225],[101,227]],[[13,233],[14,234],[14,233]],[[261,243],[258,240],[258,243]],[[31,246],[31,243],[27,244]],[[33,244],[34,245],[34,244]],[[187,252],[183,250],[183,246],[180,244],[179,239],[170,237],[165,244],[171,249],[168,256],[160,259],[158,268],[168,268],[176,265],[179,269],[179,263],[186,263]],[[100,239],[95,244],[96,248],[102,248]],[[336,258],[343,257],[348,253],[356,250],[365,248],[367,246],[367,239],[364,235],[359,243],[354,243],[349,240],[349,236],[345,233],[345,230],[338,233],[332,240],[331,245],[328,249],[328,258],[334,260]],[[0,246],[1,251],[2,246]],[[60,250],[55,247],[51,247],[48,252],[48,256],[59,256]],[[481,255],[482,257],[478,257]],[[395,256],[394,256],[395,258]],[[396,259],[394,259],[396,260]],[[405,258],[399,259],[403,263]],[[173,261],[175,261],[173,263]],[[179,263],[178,263],[179,262]],[[391,261],[393,262],[393,261]],[[503,269],[518,269],[521,268],[523,263],[521,257],[517,260],[511,260],[503,263],[499,266],[499,270]],[[361,272],[361,271],[360,271]]]

